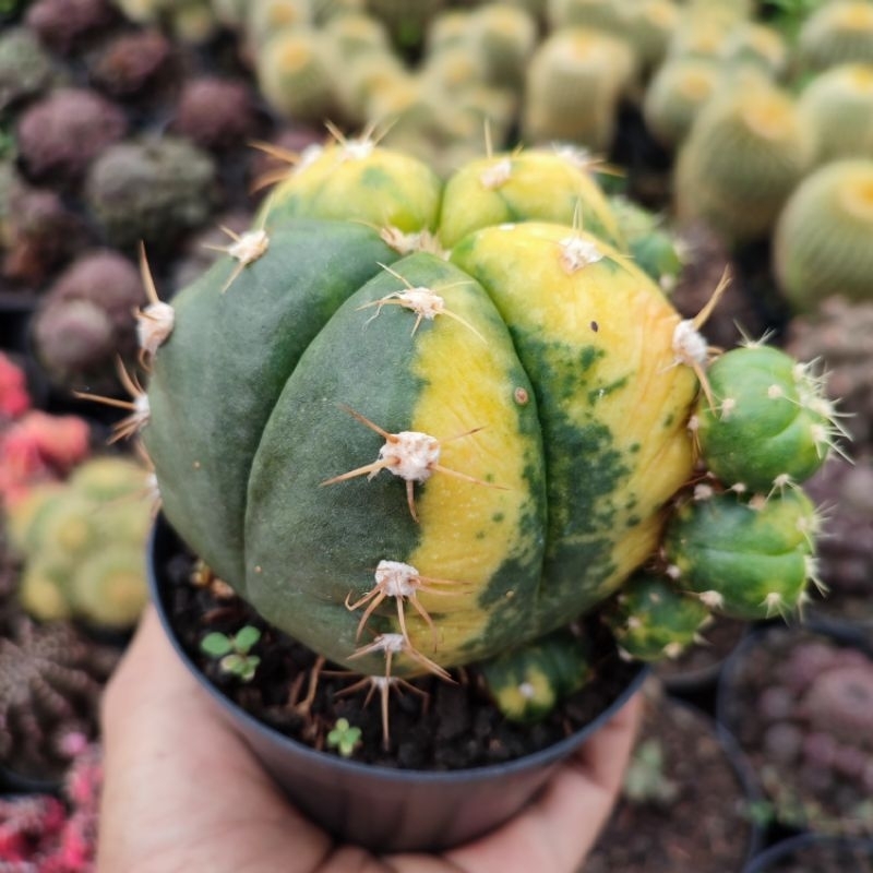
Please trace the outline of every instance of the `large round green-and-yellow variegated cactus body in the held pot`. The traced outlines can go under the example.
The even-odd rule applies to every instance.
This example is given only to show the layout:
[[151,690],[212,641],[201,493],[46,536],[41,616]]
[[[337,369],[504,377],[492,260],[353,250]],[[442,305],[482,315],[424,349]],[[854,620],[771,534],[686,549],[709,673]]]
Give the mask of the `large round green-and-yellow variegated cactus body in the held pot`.
[[[570,635],[582,672],[569,678],[561,634],[543,636],[647,562],[682,589],[684,555],[669,555],[670,575],[660,546],[699,476],[690,422],[709,350],[626,253],[585,229],[578,171],[560,151],[522,152],[442,186],[367,140],[334,143],[171,307],[143,311],[147,393],[120,431],[141,429],[189,546],[330,660],[379,678],[500,656],[492,677],[554,663],[553,685],[572,689],[584,643]],[[548,213],[559,200],[563,213]],[[754,427],[736,439],[755,456]],[[788,457],[769,463],[768,483]],[[767,536],[748,539],[739,563],[765,564]],[[683,607],[675,637],[643,603],[667,624],[649,641],[665,654],[687,642],[707,597]],[[534,661],[509,665],[525,644]]]

